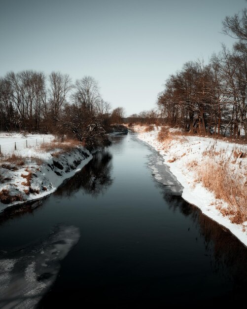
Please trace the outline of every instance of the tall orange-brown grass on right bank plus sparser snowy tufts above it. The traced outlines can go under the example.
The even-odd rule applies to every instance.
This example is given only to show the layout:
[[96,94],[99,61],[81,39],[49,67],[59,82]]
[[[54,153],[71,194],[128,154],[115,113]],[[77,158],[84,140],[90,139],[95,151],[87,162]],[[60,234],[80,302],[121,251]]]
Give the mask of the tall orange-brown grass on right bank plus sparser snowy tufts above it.
[[228,204],[227,207],[218,204],[216,208],[223,216],[229,216],[232,223],[247,221],[247,171],[242,166],[242,160],[238,159],[240,151],[233,150],[227,155],[225,149],[216,151],[214,143],[202,154],[203,161],[192,160],[187,163],[188,170],[197,173],[195,182],[201,182],[214,193],[215,198]]

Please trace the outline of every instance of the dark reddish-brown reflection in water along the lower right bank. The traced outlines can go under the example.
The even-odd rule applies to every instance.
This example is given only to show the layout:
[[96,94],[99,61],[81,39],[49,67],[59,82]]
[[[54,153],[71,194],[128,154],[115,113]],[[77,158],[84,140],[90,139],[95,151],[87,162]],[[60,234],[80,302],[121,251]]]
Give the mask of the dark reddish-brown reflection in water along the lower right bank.
[[[235,286],[235,297],[243,295],[247,286],[247,248],[229,230],[204,215],[199,208],[180,196],[164,192],[164,199],[173,211],[190,217],[204,239],[206,256],[210,257],[212,270],[227,276]],[[188,232],[189,232],[188,228]],[[196,239],[195,239],[196,240]],[[226,271],[227,270],[227,271]]]

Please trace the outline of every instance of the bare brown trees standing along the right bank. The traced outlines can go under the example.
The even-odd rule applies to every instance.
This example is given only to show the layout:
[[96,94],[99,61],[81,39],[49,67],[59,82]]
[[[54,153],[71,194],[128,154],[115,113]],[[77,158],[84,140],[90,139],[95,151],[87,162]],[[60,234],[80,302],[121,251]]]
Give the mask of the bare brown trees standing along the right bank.
[[247,139],[247,10],[223,21],[223,32],[237,39],[210,63],[191,61],[171,75],[158,94],[160,117],[184,131]]

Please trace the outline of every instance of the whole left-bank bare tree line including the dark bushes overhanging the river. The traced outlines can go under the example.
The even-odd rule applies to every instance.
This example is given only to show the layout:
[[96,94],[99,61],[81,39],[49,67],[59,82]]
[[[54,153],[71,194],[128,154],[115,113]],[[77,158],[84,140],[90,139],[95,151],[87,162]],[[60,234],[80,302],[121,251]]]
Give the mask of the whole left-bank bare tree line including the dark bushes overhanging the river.
[[110,123],[121,122],[123,109],[112,113],[110,109],[98,82],[90,76],[74,83],[61,72],[46,77],[43,72],[26,70],[0,77],[2,131],[67,134],[96,144],[97,138],[104,140]]

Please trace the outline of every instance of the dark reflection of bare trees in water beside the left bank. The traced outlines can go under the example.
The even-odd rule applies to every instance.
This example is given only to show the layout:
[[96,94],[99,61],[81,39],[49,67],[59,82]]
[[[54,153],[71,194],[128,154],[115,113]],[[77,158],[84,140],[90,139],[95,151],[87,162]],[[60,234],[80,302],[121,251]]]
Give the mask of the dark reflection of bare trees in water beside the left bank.
[[111,158],[112,155],[107,151],[97,152],[79,173],[69,179],[54,194],[71,196],[81,189],[96,198],[99,194],[104,194],[113,182]]

